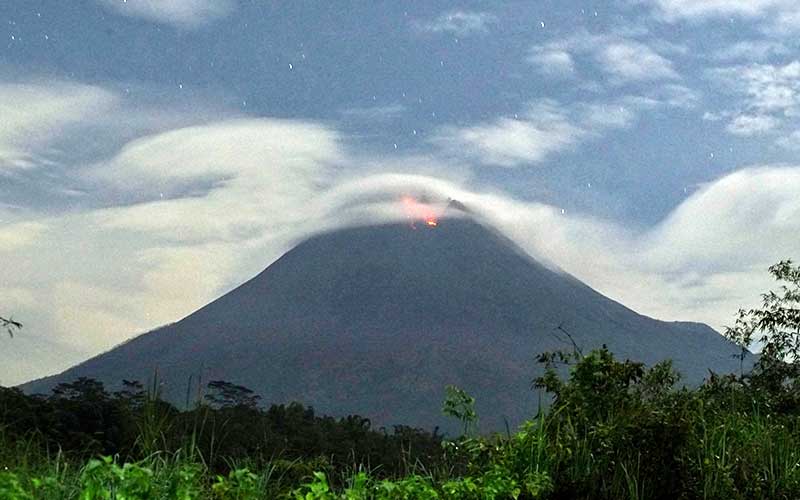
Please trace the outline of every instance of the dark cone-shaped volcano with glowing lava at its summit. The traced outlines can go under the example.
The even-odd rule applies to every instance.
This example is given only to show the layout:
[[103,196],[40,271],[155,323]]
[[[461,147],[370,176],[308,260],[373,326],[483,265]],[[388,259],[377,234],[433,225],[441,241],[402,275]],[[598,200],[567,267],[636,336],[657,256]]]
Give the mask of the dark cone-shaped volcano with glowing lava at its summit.
[[452,217],[311,237],[177,323],[24,389],[80,376],[113,387],[157,370],[179,405],[196,390],[188,385],[223,379],[267,404],[431,429],[455,384],[476,397],[484,428],[499,430],[535,412],[535,356],[571,349],[562,330],[584,352],[606,344],[623,359],[670,358],[689,383],[739,369],[738,349],[710,327],[637,314],[476,219]]

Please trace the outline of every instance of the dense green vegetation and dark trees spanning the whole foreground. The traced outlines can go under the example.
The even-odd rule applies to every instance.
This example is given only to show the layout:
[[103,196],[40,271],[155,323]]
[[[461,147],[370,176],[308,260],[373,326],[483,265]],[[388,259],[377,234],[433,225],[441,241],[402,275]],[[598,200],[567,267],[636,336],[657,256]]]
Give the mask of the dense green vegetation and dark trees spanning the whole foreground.
[[800,498],[800,267],[770,271],[779,290],[726,332],[743,356],[758,342],[752,372],[687,388],[669,363],[543,354],[532,386],[550,403],[503,435],[477,435],[474,401],[455,387],[443,411],[463,425],[456,439],[260,409],[223,381],[185,412],[136,382],[3,389],[0,498]]

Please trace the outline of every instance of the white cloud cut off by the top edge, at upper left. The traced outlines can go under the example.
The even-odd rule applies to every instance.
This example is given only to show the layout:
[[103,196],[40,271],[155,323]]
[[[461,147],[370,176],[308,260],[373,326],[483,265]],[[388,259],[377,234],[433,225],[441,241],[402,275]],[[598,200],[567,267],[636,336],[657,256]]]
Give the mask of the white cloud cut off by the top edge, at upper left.
[[125,16],[198,28],[226,16],[235,8],[234,0],[97,0],[101,5]]

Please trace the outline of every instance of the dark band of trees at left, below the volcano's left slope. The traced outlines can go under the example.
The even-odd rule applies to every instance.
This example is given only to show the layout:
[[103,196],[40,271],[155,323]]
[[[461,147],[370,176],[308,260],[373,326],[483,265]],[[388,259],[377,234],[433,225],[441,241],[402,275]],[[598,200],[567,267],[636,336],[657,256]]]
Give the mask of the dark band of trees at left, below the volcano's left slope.
[[222,380],[209,390],[209,404],[179,411],[131,380],[113,393],[86,377],[57,385],[49,396],[0,387],[0,428],[11,439],[28,443],[37,436],[44,450],[80,459],[104,454],[135,461],[191,446],[212,470],[226,472],[236,460],[279,458],[291,469],[281,473],[298,481],[313,470],[299,471],[293,464],[300,462],[323,468],[381,464],[390,475],[409,463],[433,467],[443,460],[438,430],[373,429],[367,418],[317,415],[300,403],[262,409],[253,391]]

